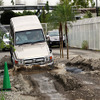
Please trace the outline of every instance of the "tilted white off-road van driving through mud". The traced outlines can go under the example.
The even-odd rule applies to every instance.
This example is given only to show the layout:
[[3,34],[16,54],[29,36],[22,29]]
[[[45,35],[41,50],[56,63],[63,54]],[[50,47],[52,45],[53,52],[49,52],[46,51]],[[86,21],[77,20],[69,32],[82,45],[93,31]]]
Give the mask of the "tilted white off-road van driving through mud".
[[53,66],[53,55],[36,15],[11,18],[10,29],[14,66]]

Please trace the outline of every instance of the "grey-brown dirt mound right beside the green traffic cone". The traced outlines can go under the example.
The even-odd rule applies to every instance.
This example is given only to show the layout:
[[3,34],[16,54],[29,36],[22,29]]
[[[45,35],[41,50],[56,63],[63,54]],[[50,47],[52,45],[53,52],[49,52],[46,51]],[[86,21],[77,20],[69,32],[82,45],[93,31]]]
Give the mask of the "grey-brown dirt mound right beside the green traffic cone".
[[[10,76],[11,91],[3,92],[6,100],[37,100],[37,97],[30,96],[33,87],[29,83],[29,76],[22,74]],[[0,79],[0,87],[3,86],[3,79]],[[25,96],[26,95],[26,96]]]

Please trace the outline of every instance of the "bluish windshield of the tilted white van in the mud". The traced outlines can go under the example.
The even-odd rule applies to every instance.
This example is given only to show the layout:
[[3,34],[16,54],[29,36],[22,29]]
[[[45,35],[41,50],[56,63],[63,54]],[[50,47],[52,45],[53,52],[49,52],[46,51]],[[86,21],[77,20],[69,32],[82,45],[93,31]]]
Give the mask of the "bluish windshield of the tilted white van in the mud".
[[28,30],[15,33],[15,45],[44,42],[45,38],[41,29]]

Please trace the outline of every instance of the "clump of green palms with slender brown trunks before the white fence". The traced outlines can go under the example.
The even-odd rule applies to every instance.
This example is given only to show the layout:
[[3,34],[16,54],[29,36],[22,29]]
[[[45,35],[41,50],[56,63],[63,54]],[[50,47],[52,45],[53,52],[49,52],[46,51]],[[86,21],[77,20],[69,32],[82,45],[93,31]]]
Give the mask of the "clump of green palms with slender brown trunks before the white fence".
[[[69,21],[74,21],[75,14],[72,10],[72,5],[69,0],[62,0],[60,4],[57,5],[54,11],[51,13],[51,17],[49,18],[50,23],[54,27],[59,27],[59,37],[60,37],[60,47],[62,48],[62,57],[63,57],[63,32],[62,26],[65,25],[65,34],[67,39],[67,59],[69,59],[69,48],[68,48],[68,27],[67,23]],[[60,49],[61,56],[61,49]]]

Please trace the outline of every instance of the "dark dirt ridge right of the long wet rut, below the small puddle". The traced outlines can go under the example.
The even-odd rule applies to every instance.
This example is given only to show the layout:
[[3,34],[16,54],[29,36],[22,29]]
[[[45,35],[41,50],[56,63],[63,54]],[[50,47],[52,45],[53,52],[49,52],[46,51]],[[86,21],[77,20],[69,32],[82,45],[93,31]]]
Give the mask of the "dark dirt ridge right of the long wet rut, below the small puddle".
[[75,90],[82,86],[79,80],[66,72],[63,64],[59,64],[57,67],[58,69],[53,70],[51,75],[55,77],[58,82],[63,84],[65,90]]

